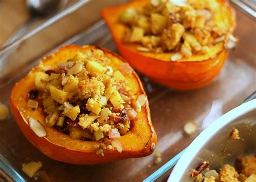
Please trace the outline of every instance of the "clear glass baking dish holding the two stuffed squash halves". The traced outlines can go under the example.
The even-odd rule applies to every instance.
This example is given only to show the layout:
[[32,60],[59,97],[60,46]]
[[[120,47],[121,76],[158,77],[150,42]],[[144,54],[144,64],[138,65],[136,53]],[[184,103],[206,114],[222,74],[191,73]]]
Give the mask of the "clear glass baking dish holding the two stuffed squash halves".
[[[116,1],[112,4],[122,2]],[[97,1],[94,3],[96,6]],[[93,44],[117,52],[111,34],[103,20],[99,20],[89,28],[79,27],[76,31],[80,33],[76,31],[66,33],[62,39],[58,39],[54,44],[38,46],[38,41],[41,41],[48,33],[51,33],[52,37],[57,36],[59,33],[57,27],[62,26],[66,18],[76,17],[79,11],[85,11],[86,8],[91,9],[92,7],[93,5],[90,3],[82,6],[71,15],[46,27],[46,29],[24,41],[18,48],[15,48],[15,51],[8,58],[8,64],[2,67],[3,69],[10,69],[10,71],[6,72],[5,75],[0,73],[0,102],[9,105],[10,90],[15,82],[38,64],[39,59],[45,54],[56,51],[62,45]],[[66,20],[70,21],[70,19]],[[220,75],[210,85],[198,90],[180,92],[151,82],[148,78],[139,74],[149,98],[152,122],[158,135],[158,145],[152,155],[100,165],[82,166],[57,162],[44,156],[33,147],[19,131],[15,121],[10,116],[8,120],[0,122],[0,162],[2,161],[0,167],[5,172],[10,170],[8,174],[16,181],[33,180],[22,172],[22,163],[31,160],[40,160],[43,163],[43,167],[36,175],[39,181],[152,180],[147,177],[164,164],[168,165],[169,168],[172,164],[174,165],[182,154],[181,151],[202,130],[224,113],[238,106],[256,90],[256,53],[254,51],[256,47],[252,38],[255,31],[255,22],[238,11],[237,21],[238,26],[235,36],[239,37],[238,46],[230,52]],[[82,28],[84,31],[81,30]],[[21,61],[18,62],[19,60]],[[14,64],[19,64],[18,69],[13,69]],[[197,132],[188,136],[183,131],[183,126],[191,120],[197,123]],[[161,161],[158,161],[158,163],[156,162],[156,151],[158,155],[161,154]],[[176,156],[178,153],[179,155]],[[161,171],[157,178],[153,178],[153,180],[165,180],[169,174],[170,170]]]

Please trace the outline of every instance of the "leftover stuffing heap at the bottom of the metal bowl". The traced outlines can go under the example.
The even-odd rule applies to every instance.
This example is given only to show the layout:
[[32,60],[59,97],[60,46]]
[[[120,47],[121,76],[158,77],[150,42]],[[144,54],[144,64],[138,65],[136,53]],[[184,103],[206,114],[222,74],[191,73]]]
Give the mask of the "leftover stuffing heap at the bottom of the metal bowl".
[[256,181],[256,157],[238,157],[236,167],[225,164],[219,173],[208,168],[207,162],[193,170],[194,181],[202,182],[253,182]]

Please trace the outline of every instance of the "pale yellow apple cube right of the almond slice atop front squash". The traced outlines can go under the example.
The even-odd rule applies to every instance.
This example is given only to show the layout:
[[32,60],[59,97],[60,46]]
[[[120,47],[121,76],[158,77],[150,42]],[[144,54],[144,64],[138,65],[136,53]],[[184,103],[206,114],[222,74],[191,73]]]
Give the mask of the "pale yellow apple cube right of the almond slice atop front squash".
[[91,76],[102,77],[107,71],[107,68],[98,64],[96,61],[88,61],[86,64],[86,69]]

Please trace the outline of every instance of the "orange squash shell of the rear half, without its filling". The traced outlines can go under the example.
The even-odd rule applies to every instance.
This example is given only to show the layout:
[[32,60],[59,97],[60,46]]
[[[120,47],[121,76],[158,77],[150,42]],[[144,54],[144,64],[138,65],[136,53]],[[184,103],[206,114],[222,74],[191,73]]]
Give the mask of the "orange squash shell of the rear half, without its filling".
[[[134,48],[140,46],[139,44],[123,43],[125,25],[118,22],[120,12],[127,8],[142,7],[147,2],[149,1],[132,1],[123,5],[105,8],[102,11],[102,17],[109,26],[120,54],[133,68],[148,76],[151,80],[167,87],[177,90],[192,90],[206,86],[218,76],[225,64],[227,51],[224,45],[221,46],[216,54],[207,59],[200,58],[200,60],[197,60],[192,56],[190,60],[166,61],[170,60],[170,53],[163,53],[163,55],[149,53],[147,55]],[[220,0],[219,3],[226,6],[227,11],[230,13],[228,20],[232,24],[230,29],[230,33],[232,33],[236,26],[235,12],[227,1]]]

